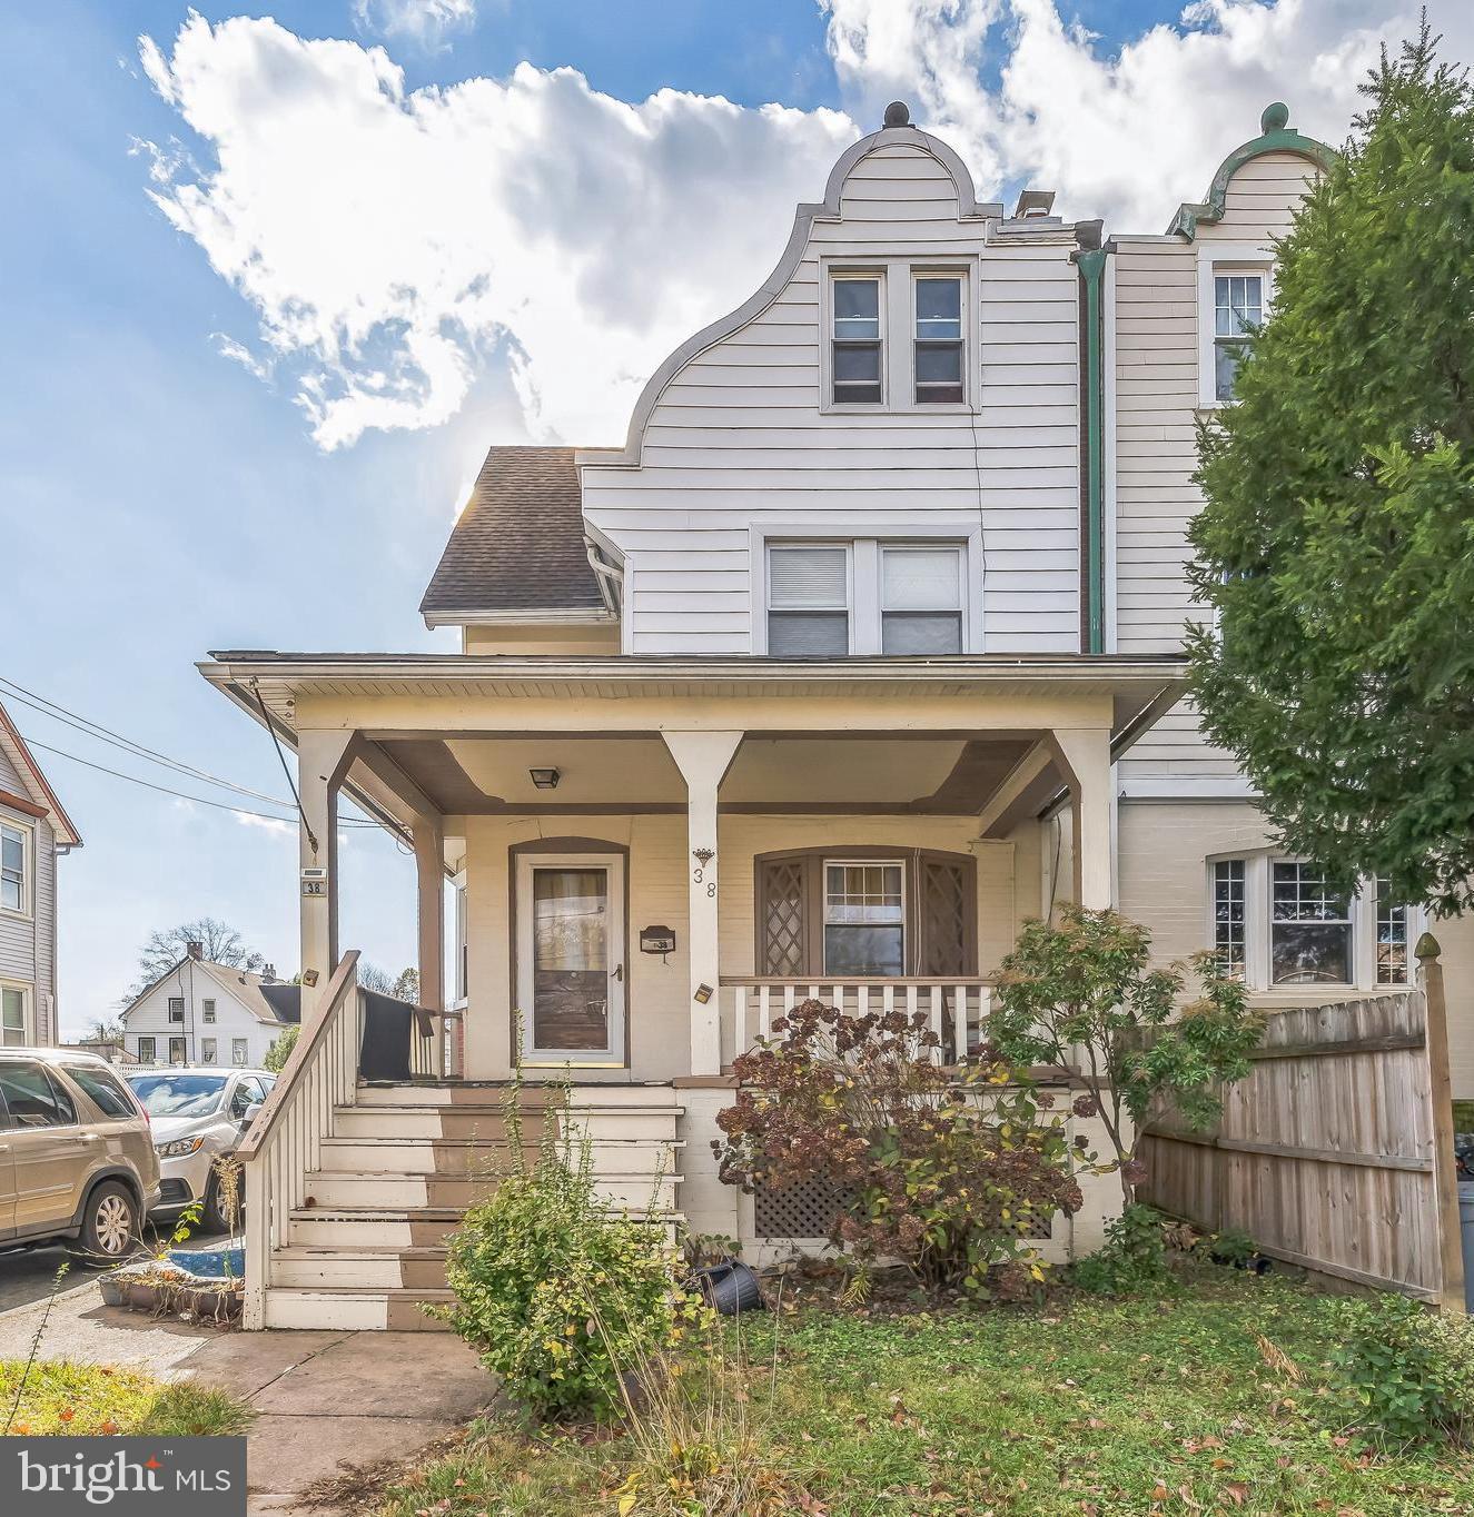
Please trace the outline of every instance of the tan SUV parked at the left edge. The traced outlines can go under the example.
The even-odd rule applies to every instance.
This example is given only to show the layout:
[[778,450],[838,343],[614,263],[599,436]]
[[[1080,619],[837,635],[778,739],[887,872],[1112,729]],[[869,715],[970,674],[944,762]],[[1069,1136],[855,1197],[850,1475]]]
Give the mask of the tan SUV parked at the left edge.
[[67,1239],[111,1264],[158,1191],[149,1115],[105,1059],[0,1048],[0,1248]]

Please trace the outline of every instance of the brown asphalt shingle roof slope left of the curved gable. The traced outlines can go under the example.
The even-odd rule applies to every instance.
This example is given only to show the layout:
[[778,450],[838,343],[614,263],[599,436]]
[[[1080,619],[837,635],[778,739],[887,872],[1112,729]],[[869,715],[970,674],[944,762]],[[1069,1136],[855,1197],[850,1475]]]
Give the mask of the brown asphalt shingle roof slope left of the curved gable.
[[420,611],[568,611],[603,605],[583,543],[572,448],[493,448]]

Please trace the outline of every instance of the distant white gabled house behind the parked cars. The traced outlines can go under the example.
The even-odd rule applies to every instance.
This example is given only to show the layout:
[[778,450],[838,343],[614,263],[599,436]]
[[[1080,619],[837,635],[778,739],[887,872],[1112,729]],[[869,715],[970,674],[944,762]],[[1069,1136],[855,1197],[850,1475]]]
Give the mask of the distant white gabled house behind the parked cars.
[[140,1063],[260,1069],[299,1016],[299,991],[266,974],[213,963],[199,944],[121,1013],[123,1047]]

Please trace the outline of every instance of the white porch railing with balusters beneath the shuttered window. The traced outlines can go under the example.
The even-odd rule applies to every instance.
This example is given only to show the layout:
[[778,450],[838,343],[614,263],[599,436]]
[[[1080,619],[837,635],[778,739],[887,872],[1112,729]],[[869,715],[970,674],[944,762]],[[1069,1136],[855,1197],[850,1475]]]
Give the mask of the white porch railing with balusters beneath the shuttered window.
[[757,1038],[768,1038],[773,1024],[805,1001],[823,1001],[849,1016],[893,1010],[926,1018],[937,1035],[940,1054],[956,1063],[973,1054],[985,1039],[993,981],[950,977],[900,975],[888,980],[824,975],[792,980],[771,975],[721,977],[721,1066],[732,1068]]

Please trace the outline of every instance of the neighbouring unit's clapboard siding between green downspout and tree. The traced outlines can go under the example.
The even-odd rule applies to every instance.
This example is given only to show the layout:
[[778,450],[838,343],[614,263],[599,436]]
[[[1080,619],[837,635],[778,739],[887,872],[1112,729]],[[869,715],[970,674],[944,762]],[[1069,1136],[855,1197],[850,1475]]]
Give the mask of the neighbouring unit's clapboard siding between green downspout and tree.
[[[1266,153],[1233,176],[1219,221],[1199,223],[1196,243],[1123,238],[1113,258],[1116,299],[1116,645],[1170,652],[1195,605],[1186,567],[1187,528],[1202,505],[1198,461],[1198,258],[1213,243],[1272,247],[1289,231],[1310,165]],[[1211,313],[1208,316],[1211,320]],[[1233,758],[1208,745],[1181,705],[1122,762],[1140,790],[1152,778],[1231,780]]]

